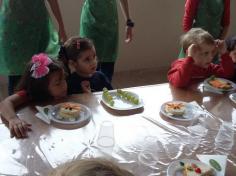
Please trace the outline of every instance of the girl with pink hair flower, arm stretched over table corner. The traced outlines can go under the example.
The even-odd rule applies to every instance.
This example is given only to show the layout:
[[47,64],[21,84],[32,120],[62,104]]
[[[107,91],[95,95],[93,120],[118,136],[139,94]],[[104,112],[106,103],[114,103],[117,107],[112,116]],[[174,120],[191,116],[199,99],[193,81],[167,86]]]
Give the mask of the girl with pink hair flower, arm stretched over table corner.
[[31,130],[30,124],[17,117],[14,110],[17,106],[28,101],[59,99],[66,95],[63,66],[46,54],[34,55],[21,79],[19,91],[0,104],[1,116],[8,123],[11,137],[25,138]]

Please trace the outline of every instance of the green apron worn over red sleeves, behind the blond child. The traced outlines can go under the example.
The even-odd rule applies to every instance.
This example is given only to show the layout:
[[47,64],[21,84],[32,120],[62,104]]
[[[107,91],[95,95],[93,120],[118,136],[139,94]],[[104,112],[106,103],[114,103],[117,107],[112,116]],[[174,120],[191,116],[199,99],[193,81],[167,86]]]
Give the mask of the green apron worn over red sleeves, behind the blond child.
[[[199,0],[193,28],[200,27],[208,31],[215,39],[220,37],[223,29],[221,22],[224,15],[224,0]],[[179,58],[184,58],[181,49]]]

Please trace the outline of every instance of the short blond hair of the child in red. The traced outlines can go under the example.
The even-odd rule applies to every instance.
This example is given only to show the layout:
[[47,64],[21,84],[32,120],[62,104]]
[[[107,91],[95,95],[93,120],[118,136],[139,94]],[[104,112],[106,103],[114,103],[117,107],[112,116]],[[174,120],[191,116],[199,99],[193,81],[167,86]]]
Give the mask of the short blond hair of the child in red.
[[215,41],[213,36],[202,28],[192,28],[181,36],[180,43],[183,46],[184,52],[186,53],[186,50],[191,44],[199,45],[206,43],[209,45],[214,45]]

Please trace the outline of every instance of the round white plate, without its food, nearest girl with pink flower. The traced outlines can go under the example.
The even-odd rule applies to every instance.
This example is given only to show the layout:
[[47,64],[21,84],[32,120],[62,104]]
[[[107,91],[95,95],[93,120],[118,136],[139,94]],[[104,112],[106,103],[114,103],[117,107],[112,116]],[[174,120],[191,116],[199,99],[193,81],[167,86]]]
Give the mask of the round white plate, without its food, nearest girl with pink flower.
[[[70,103],[70,102],[66,102],[66,103]],[[56,123],[66,124],[66,125],[80,124],[80,123],[88,122],[92,117],[92,113],[87,106],[77,103],[81,107],[79,116],[73,119],[63,118],[59,115],[59,110],[62,104],[64,103],[57,104],[51,109],[50,118],[52,121]]]

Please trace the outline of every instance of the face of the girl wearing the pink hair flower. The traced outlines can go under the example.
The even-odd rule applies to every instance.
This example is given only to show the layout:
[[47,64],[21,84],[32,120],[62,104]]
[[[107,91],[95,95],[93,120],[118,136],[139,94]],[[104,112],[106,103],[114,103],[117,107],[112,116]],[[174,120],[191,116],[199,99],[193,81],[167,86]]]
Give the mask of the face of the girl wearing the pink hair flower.
[[49,76],[48,90],[51,96],[55,99],[66,97],[67,83],[63,71],[51,73]]

